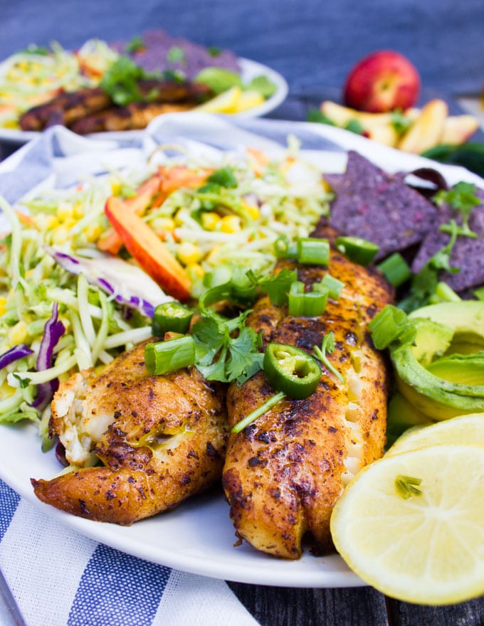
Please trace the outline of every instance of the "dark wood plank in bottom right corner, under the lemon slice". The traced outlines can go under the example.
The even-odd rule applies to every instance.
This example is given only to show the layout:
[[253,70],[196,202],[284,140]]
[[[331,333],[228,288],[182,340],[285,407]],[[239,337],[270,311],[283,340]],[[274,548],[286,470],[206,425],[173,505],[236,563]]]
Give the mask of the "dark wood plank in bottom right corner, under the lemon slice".
[[388,600],[391,626],[483,626],[484,596],[458,605],[426,607]]

